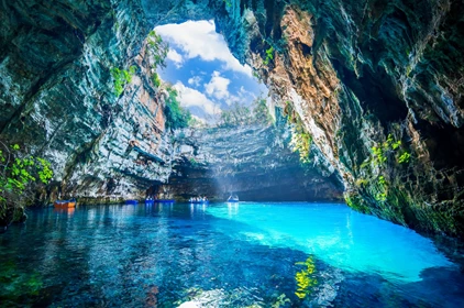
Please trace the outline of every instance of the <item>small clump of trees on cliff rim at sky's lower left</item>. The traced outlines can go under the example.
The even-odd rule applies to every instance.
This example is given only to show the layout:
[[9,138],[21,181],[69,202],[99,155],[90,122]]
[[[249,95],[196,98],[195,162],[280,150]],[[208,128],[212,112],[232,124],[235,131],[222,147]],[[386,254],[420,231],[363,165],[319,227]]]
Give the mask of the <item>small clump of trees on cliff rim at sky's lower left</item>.
[[187,128],[191,119],[190,111],[180,106],[180,102],[177,99],[178,94],[176,89],[168,87],[166,90],[168,92],[164,109],[166,128],[169,130]]

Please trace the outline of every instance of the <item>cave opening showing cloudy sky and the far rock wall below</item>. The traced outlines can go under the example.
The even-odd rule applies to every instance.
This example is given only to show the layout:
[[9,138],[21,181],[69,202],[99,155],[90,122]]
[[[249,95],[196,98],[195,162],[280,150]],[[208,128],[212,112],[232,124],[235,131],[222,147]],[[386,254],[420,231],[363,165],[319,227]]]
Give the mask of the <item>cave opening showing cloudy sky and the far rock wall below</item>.
[[189,128],[173,131],[174,170],[168,184],[151,188],[154,196],[218,201],[231,194],[250,201],[340,198],[336,180],[300,164],[285,119],[278,111],[270,116],[267,88],[232,55],[213,21],[165,24],[154,31],[169,45],[157,74],[194,120]]

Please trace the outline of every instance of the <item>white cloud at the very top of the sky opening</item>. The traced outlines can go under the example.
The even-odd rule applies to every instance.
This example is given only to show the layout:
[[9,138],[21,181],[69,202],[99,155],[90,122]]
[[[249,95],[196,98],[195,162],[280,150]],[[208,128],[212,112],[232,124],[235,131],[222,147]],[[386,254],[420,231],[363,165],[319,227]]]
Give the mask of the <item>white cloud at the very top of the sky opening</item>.
[[185,57],[200,57],[203,61],[220,61],[224,69],[252,76],[250,66],[241,65],[229,51],[224,37],[216,32],[213,21],[187,21],[181,24],[165,24],[155,31],[168,42],[178,45]]

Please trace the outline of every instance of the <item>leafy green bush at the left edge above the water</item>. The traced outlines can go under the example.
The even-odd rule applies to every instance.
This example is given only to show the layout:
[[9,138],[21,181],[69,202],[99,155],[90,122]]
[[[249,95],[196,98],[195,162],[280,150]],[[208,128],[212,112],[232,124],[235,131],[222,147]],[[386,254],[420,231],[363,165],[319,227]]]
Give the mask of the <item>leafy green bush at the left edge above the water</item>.
[[[53,177],[51,163],[20,153],[20,146],[0,142],[0,222],[20,221],[34,201],[34,188]],[[38,178],[38,182],[37,182]]]

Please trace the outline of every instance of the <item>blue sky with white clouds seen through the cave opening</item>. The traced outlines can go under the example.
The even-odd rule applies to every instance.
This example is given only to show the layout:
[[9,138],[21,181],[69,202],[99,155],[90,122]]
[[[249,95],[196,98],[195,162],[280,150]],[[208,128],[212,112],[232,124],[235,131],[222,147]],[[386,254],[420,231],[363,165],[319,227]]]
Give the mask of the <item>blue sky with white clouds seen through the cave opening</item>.
[[251,67],[231,54],[213,21],[166,24],[155,31],[169,44],[166,68],[158,68],[159,76],[174,85],[180,105],[199,119],[213,121],[214,114],[235,102],[251,105],[267,96]]

